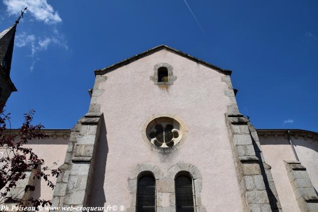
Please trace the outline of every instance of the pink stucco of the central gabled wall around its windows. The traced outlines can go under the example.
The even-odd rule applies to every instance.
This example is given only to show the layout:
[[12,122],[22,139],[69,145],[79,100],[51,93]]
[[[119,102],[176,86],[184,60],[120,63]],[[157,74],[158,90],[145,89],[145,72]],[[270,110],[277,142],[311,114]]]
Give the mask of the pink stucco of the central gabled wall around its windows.
[[[154,66],[159,63],[170,64],[177,76],[167,90],[150,80]],[[221,80],[223,73],[160,50],[105,76],[107,80],[98,87],[105,92],[97,103],[104,113],[107,131],[101,142],[107,143],[103,147],[104,159],[97,160],[96,165],[104,166],[103,191],[99,184],[97,194],[101,197],[103,193],[106,207],[130,206],[128,177],[137,164],[158,165],[166,174],[174,164],[187,162],[201,172],[202,205],[208,212],[242,211],[225,122],[230,99],[224,94],[227,84]],[[164,113],[177,115],[189,129],[182,147],[166,155],[151,150],[141,134],[146,119]],[[95,194],[92,195],[94,199]]]

